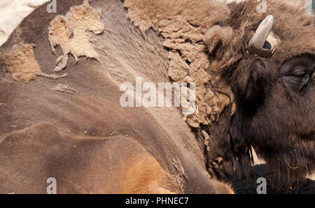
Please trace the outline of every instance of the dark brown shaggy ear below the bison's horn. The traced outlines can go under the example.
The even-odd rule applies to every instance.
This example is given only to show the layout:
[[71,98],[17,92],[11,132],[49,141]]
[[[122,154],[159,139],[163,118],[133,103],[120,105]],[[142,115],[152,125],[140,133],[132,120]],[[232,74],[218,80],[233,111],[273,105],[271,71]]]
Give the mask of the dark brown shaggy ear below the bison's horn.
[[[264,59],[243,61],[232,75],[230,83],[238,103],[259,103],[268,89],[268,82],[272,73],[268,70]],[[247,105],[244,105],[247,106]]]

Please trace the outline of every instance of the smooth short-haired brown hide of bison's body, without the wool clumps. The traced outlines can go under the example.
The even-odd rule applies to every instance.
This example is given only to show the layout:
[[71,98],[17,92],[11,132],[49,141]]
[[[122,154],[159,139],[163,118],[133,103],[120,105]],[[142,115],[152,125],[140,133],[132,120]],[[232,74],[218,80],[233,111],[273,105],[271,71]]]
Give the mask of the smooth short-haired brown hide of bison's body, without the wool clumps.
[[[58,15],[82,3],[61,1]],[[0,124],[0,192],[45,193],[45,180],[55,177],[57,193],[232,193],[210,179],[178,109],[120,106],[119,84],[134,82],[136,75],[169,81],[167,52],[153,31],[143,38],[120,1],[90,4],[106,8],[102,22],[110,28],[92,36],[104,39],[95,42],[102,53],[99,62],[80,59],[74,65],[69,59],[69,77],[58,82],[7,82],[1,73],[0,98],[6,105],[0,119],[6,122]],[[18,37],[35,43],[38,66],[49,72],[55,55],[47,29],[55,15],[46,12],[46,5],[27,17],[20,34],[15,31],[1,49],[10,50]],[[52,90],[57,84],[76,92]]]

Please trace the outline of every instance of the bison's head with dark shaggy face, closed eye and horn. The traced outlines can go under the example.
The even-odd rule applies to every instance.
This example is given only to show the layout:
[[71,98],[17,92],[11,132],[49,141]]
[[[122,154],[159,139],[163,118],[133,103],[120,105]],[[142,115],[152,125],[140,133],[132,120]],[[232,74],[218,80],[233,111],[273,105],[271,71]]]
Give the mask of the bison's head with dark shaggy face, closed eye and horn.
[[222,168],[212,155],[210,169],[249,166],[253,147],[279,181],[291,184],[315,170],[314,16],[282,1],[268,1],[267,13],[255,6],[231,3],[230,20],[204,36],[211,67],[230,85],[237,106],[221,140]]

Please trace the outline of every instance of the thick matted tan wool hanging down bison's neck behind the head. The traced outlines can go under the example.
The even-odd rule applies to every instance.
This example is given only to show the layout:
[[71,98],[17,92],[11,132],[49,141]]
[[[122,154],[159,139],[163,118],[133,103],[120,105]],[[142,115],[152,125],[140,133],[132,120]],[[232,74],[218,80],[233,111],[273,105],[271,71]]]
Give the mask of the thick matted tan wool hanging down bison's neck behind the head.
[[126,0],[124,6],[128,8],[127,16],[143,34],[153,27],[164,36],[164,46],[170,50],[169,77],[180,83],[195,82],[196,111],[187,117],[188,124],[197,128],[216,121],[225,107],[233,103],[232,92],[222,84],[214,87],[216,80],[207,71],[210,63],[203,38],[216,22],[228,19],[230,10],[225,3]]

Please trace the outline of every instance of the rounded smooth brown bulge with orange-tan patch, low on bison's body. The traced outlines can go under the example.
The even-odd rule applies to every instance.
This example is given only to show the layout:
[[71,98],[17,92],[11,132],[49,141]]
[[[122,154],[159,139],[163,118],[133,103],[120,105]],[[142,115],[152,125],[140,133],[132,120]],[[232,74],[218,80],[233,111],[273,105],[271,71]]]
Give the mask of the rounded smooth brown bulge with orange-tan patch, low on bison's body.
[[[20,158],[25,151],[27,158]],[[180,193],[158,161],[124,135],[78,137],[40,122],[8,134],[0,152],[10,158],[0,162],[1,193],[24,193],[27,186],[27,193],[45,193],[49,176],[57,180],[57,193]]]

